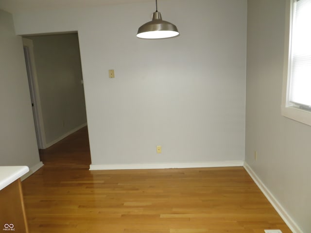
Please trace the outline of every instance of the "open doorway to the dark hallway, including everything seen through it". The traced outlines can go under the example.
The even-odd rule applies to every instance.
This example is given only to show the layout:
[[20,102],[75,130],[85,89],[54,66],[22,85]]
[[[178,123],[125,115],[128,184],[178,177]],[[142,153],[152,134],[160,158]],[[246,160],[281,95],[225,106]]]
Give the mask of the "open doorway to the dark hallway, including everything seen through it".
[[23,37],[41,161],[52,166],[89,166],[77,33]]

